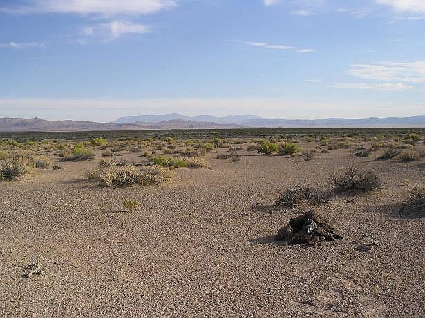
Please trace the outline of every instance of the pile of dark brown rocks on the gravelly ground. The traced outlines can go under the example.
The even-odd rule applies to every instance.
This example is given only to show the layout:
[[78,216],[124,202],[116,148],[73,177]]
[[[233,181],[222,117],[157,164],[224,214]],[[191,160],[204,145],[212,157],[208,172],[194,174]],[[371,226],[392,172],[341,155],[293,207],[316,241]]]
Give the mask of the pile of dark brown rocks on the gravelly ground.
[[276,235],[276,241],[287,241],[290,244],[307,243],[310,246],[342,238],[341,232],[335,226],[313,211],[290,219],[289,224],[278,230]]

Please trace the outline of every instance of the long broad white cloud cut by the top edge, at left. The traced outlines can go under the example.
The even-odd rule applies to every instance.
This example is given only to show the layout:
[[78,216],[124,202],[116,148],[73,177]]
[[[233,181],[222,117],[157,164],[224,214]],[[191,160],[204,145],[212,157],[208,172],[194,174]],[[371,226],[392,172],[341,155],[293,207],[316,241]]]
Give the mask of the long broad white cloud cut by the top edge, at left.
[[3,8],[16,13],[150,14],[176,6],[175,0],[30,0],[28,6]]

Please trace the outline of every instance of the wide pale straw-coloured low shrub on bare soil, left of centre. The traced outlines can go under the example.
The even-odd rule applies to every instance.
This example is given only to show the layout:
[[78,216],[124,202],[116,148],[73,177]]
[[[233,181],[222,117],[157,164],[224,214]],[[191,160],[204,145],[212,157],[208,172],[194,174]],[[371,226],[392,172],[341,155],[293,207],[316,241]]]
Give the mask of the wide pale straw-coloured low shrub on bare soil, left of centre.
[[164,183],[170,179],[169,170],[160,166],[148,166],[142,170],[136,166],[116,166],[115,163],[102,164],[86,172],[88,179],[102,181],[111,188],[121,188],[140,184]]

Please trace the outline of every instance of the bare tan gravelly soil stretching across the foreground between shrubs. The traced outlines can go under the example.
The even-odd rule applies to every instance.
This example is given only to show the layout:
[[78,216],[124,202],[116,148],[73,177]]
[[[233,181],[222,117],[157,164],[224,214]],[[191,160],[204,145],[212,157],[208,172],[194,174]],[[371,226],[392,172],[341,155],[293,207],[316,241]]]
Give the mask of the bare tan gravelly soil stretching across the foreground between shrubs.
[[[240,162],[211,153],[210,170],[176,169],[164,186],[105,188],[84,178],[96,161],[0,183],[0,317],[425,316],[425,218],[397,213],[408,188],[425,183],[424,161],[241,153]],[[378,172],[384,188],[321,206],[252,208],[292,186],[328,187],[352,163]],[[124,198],[140,206],[120,212]],[[274,241],[310,208],[345,239]],[[365,233],[379,245],[360,252],[353,241]],[[32,262],[41,274],[22,277]]]

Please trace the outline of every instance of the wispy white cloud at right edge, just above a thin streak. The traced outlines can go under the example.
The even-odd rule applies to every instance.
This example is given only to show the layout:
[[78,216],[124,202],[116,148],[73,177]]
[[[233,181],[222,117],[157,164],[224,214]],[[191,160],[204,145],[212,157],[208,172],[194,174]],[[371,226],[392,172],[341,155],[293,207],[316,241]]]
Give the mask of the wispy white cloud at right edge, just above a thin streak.
[[425,61],[406,63],[355,64],[348,74],[378,81],[425,83]]

